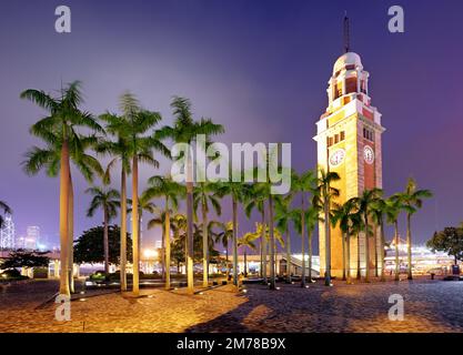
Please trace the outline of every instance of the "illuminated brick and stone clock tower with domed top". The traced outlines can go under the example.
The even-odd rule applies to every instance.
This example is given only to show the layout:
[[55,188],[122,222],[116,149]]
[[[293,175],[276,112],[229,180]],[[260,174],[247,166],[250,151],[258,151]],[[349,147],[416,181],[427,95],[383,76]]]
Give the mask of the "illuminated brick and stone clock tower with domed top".
[[[359,54],[348,51],[333,67],[329,80],[326,111],[316,122],[318,164],[319,169],[336,172],[341,180],[333,184],[340,190],[334,202],[342,204],[351,197],[359,196],[365,189],[382,187],[381,113],[372,106],[369,92],[369,72],[363,70]],[[378,231],[375,231],[376,233]],[[374,274],[375,252],[380,251],[374,239],[369,239],[370,260],[365,261],[365,234],[351,237],[351,275],[358,271],[360,250],[361,274],[370,267]],[[336,226],[331,230],[331,274],[342,276],[342,233]],[[324,223],[319,225],[321,275],[325,271],[325,233]],[[360,247],[359,247],[360,246]],[[382,265],[380,265],[382,267]]]

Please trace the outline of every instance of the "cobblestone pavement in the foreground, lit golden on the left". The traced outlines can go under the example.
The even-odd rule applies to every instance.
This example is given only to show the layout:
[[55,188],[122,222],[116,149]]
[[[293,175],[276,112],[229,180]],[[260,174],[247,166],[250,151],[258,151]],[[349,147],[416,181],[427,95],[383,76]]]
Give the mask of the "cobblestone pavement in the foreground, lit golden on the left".
[[[56,282],[0,286],[0,332],[463,332],[463,282],[278,286],[246,285],[246,293],[221,286],[197,295],[142,290],[139,298],[85,294],[63,323],[54,321],[54,304],[37,308]],[[402,322],[387,318],[391,294],[404,298]]]

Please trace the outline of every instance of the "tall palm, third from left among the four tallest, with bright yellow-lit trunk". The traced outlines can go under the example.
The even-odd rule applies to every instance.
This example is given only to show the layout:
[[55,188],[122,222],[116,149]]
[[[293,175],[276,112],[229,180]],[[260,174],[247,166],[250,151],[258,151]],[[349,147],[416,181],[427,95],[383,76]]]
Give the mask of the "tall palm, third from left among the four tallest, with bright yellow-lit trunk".
[[133,248],[133,286],[132,293],[138,295],[140,254],[139,254],[139,162],[144,162],[154,168],[159,162],[153,156],[153,151],[170,158],[170,151],[151,130],[161,121],[159,112],[143,110],[133,94],[127,92],[120,98],[120,110],[123,120],[118,124],[118,133],[123,134],[128,142],[128,156],[132,160],[132,248]]

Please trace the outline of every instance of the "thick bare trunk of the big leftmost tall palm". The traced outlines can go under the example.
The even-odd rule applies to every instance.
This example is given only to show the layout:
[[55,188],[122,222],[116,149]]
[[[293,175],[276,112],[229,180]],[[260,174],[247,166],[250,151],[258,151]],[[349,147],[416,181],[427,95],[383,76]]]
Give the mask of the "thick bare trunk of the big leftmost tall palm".
[[69,290],[69,145],[64,140],[60,162],[60,294],[70,296]]

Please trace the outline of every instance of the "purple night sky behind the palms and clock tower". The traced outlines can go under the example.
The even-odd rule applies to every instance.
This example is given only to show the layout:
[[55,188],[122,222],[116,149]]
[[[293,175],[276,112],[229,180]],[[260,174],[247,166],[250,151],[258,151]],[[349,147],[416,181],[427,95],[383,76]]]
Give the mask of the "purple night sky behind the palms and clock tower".
[[[58,180],[28,178],[22,155],[42,111],[21,101],[28,88],[52,91],[81,80],[84,108],[115,110],[127,89],[172,122],[174,94],[227,126],[231,142],[290,142],[293,166],[315,166],[315,121],[326,81],[342,54],[342,16],[352,21],[352,50],[370,71],[373,105],[383,114],[383,182],[387,194],[407,176],[435,196],[414,219],[424,242],[463,220],[462,1],[401,1],[405,33],[387,31],[395,1],[170,0],[0,2],[0,200],[14,210],[18,233],[39,225],[58,235]],[[72,33],[54,32],[54,8],[68,4]],[[163,164],[161,171],[169,165]],[[145,178],[159,172],[143,168]],[[101,222],[85,217],[90,197],[76,173],[77,235]],[[223,220],[229,220],[229,210]],[[251,223],[242,220],[241,226]],[[401,220],[401,231],[404,219]],[[149,231],[147,241],[159,237]],[[300,241],[294,235],[293,244]],[[318,247],[315,247],[318,248]]]

